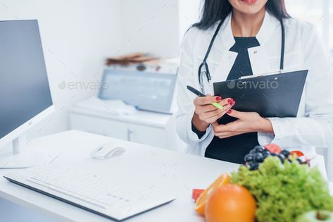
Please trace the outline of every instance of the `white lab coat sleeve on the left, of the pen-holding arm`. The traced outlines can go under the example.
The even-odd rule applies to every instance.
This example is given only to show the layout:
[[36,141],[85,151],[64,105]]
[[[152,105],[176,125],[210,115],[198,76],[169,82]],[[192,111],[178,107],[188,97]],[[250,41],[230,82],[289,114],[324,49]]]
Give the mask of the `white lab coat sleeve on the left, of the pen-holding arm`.
[[194,42],[196,40],[196,27],[191,27],[185,35],[180,51],[180,69],[177,76],[177,104],[176,130],[180,138],[190,146],[195,147],[199,142],[206,139],[211,131],[211,126],[205,135],[199,139],[198,135],[191,130],[191,121],[194,115],[193,101],[196,97],[187,90],[187,85],[196,87],[199,85],[197,71],[194,70]]

